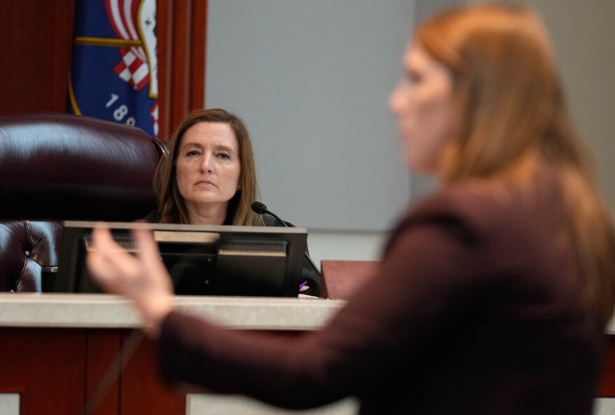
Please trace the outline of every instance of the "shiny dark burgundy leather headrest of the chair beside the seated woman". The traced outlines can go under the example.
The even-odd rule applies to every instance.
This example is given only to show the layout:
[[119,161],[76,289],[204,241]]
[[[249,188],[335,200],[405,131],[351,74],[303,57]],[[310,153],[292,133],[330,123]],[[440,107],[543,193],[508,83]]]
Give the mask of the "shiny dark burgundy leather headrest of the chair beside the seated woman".
[[63,112],[0,114],[0,218],[133,220],[154,210],[164,142]]

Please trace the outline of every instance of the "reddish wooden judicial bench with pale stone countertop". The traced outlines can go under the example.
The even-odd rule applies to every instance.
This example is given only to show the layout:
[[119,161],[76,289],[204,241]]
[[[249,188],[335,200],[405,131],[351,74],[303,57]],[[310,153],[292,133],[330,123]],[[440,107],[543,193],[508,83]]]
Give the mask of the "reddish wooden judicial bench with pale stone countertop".
[[[231,329],[294,335],[326,323],[376,266],[322,261],[323,299],[178,297],[177,306]],[[613,325],[607,336],[597,397],[615,398]],[[187,414],[187,391],[161,382],[152,342],[117,296],[0,293],[0,354],[0,394],[19,394],[22,415]]]

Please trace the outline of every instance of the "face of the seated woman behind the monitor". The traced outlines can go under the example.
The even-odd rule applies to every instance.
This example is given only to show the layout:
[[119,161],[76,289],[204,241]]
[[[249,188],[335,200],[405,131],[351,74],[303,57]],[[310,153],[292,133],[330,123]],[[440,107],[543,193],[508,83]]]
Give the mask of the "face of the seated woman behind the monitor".
[[238,190],[239,145],[229,124],[199,122],[182,137],[176,174],[189,212],[207,208],[226,211]]

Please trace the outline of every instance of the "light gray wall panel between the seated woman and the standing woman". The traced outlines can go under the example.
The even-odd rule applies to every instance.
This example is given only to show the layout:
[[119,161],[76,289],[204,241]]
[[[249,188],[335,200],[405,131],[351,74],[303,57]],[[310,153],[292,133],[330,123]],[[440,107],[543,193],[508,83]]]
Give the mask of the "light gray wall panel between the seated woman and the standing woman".
[[413,21],[408,0],[209,0],[205,105],[245,120],[270,210],[383,231],[407,205],[387,100]]

